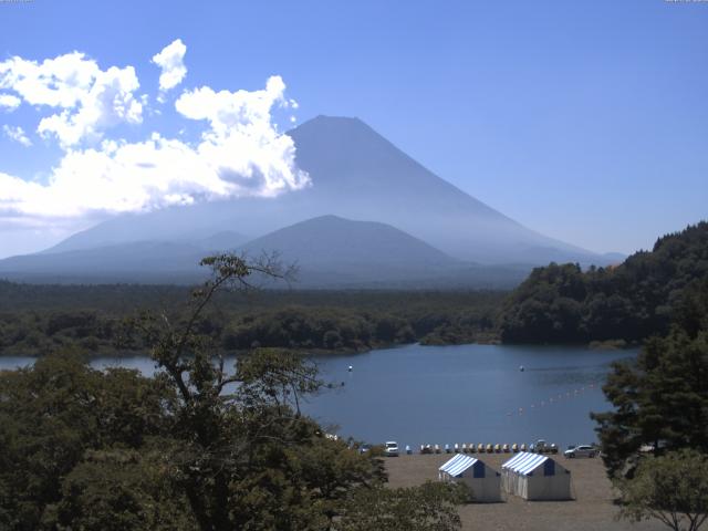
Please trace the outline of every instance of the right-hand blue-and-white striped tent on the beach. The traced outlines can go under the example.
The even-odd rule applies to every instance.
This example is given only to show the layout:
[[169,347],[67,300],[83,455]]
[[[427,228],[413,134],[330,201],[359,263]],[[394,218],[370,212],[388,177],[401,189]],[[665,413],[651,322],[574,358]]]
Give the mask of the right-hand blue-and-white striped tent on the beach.
[[522,451],[501,466],[504,492],[524,500],[570,500],[571,472],[549,456]]

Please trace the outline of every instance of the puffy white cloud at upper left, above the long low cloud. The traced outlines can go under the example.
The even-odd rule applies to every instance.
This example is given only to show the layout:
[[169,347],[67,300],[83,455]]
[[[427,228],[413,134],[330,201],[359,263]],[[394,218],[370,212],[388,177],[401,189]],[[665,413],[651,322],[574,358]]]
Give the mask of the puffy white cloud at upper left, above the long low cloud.
[[143,119],[143,105],[134,94],[139,88],[135,69],[102,71],[79,52],[41,63],[18,56],[0,62],[0,88],[14,91],[31,105],[61,108],[44,117],[37,131],[54,134],[65,148],[84,139],[96,142],[119,123]]

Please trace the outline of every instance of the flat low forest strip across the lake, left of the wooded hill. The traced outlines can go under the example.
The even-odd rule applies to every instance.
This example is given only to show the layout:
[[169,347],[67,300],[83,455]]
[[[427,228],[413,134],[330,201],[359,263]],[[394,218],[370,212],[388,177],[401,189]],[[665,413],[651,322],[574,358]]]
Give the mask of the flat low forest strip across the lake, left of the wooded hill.
[[[469,343],[496,337],[503,292],[274,291],[221,293],[200,330],[221,351],[288,347],[365,351],[420,341]],[[142,352],[135,309],[185,319],[180,287],[33,285],[0,282],[0,353],[42,355],[79,345],[94,355]]]

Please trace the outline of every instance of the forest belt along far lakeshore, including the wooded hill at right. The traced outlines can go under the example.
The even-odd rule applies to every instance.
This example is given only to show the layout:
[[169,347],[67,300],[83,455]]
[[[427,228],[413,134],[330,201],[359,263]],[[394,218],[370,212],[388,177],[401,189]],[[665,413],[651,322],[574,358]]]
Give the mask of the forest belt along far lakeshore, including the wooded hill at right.
[[[223,352],[252,347],[366,351],[420,342],[638,343],[665,334],[687,291],[708,277],[708,223],[657,240],[608,268],[551,263],[501,291],[254,290],[220,293],[199,325]],[[170,285],[35,285],[0,281],[0,355],[79,345],[94,355],[145,351],[135,309],[185,319]]]

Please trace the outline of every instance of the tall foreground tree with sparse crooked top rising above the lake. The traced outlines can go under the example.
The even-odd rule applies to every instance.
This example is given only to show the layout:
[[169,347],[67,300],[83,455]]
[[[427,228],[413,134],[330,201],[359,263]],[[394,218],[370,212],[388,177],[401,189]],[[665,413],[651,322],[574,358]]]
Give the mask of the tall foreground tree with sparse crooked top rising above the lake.
[[[231,254],[202,264],[212,278],[195,291],[186,322],[173,325],[165,315],[139,322],[160,377],[178,397],[170,434],[178,444],[169,458],[175,481],[204,531],[324,529],[342,490],[383,479],[381,466],[343,442],[323,442],[320,427],[301,414],[301,397],[323,384],[314,365],[285,351],[256,350],[229,372],[198,333],[220,290],[247,290],[254,275],[287,272]],[[326,460],[308,457],[323,452]]]

